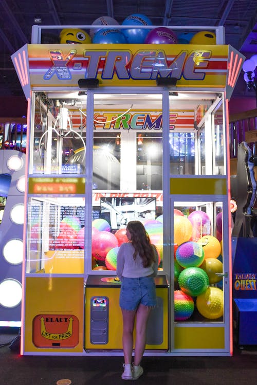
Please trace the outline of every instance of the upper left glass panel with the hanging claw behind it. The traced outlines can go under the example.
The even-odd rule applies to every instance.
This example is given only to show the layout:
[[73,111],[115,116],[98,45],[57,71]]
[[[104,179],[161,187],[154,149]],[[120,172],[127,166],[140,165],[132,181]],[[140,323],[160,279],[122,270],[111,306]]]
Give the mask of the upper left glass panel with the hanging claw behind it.
[[84,174],[86,95],[77,100],[53,96],[40,93],[35,98],[30,172]]

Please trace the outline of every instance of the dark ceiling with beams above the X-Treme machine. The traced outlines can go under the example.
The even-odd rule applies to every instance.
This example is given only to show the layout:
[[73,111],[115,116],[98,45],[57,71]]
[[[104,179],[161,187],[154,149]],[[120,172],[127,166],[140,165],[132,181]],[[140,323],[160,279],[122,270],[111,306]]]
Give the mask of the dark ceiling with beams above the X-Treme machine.
[[[133,13],[147,15],[156,26],[224,26],[226,44],[248,58],[257,52],[257,0],[1,0],[0,96],[23,95],[10,55],[31,42],[31,27],[40,20],[42,26],[89,26],[108,15],[121,24]],[[45,42],[59,42],[60,31],[49,31]]]

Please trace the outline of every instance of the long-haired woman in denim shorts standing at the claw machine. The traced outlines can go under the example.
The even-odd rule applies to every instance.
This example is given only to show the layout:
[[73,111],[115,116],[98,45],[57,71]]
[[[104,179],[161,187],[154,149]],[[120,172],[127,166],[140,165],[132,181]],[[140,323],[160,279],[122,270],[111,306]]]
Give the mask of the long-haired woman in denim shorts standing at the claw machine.
[[[117,255],[117,276],[121,281],[120,307],[123,317],[124,380],[143,374],[140,365],[145,349],[146,324],[151,309],[156,306],[154,277],[158,270],[158,254],[149,235],[139,221],[128,222],[129,242],[120,246]],[[135,357],[132,368],[133,329],[136,317]]]

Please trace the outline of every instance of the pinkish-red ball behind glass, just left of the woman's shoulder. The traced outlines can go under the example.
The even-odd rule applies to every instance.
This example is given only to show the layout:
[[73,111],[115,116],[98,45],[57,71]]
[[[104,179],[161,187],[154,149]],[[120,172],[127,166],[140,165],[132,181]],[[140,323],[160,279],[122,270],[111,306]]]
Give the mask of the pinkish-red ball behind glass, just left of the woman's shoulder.
[[107,252],[114,247],[118,247],[118,241],[111,232],[98,231],[92,237],[92,256],[99,261],[104,261]]

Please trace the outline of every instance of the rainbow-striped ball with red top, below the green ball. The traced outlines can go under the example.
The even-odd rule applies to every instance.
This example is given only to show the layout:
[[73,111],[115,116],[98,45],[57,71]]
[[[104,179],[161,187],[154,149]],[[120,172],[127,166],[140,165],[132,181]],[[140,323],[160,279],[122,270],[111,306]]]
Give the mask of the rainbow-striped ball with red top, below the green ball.
[[181,290],[174,291],[174,317],[175,321],[185,321],[194,311],[193,298]]

